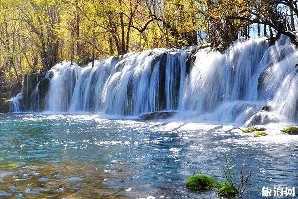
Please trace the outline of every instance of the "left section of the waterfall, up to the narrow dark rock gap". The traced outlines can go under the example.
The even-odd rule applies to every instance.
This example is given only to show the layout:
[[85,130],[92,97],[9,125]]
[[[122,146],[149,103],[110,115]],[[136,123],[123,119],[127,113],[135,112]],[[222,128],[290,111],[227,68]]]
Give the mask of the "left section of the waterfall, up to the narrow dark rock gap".
[[48,72],[53,73],[48,110],[137,116],[177,109],[192,49],[129,53],[82,70],[69,62],[57,64]]

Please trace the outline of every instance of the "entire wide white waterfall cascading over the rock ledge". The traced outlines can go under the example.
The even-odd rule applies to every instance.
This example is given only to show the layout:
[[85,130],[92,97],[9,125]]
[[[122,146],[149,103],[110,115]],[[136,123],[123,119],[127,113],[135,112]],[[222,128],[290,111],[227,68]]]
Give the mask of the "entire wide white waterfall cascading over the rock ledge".
[[[57,64],[46,74],[46,110],[132,116],[177,110],[178,118],[247,125],[298,120],[298,51],[289,39],[273,45],[240,39],[224,54],[195,51],[153,49],[98,60],[93,68]],[[263,105],[270,112],[259,112]]]

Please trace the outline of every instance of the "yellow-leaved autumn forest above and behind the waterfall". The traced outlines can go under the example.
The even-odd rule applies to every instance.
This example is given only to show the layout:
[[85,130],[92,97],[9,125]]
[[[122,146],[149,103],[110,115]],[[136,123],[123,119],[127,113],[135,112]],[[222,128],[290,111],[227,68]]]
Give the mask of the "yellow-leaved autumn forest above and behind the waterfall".
[[[152,48],[281,34],[298,46],[296,0],[0,0],[0,97],[23,75],[69,60],[84,66]],[[275,34],[276,33],[276,34]]]

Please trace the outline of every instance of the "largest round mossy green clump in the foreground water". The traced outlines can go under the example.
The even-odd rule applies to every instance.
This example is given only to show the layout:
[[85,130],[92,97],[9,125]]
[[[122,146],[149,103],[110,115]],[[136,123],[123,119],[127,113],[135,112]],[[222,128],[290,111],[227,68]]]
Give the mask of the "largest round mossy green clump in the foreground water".
[[217,186],[218,182],[214,178],[201,174],[192,176],[186,181],[187,188],[199,191],[207,191],[211,188],[216,188]]

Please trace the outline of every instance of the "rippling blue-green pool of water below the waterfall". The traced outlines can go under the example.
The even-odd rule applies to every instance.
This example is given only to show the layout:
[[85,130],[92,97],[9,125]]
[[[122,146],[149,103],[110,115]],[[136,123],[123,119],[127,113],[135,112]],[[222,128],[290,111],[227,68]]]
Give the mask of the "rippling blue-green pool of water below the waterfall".
[[184,183],[199,172],[224,182],[223,151],[252,173],[244,198],[261,198],[263,186],[298,189],[298,136],[283,125],[253,138],[223,124],[0,114],[0,198],[218,199]]

